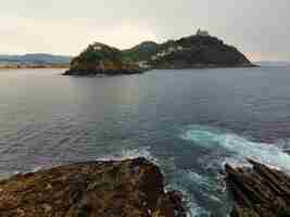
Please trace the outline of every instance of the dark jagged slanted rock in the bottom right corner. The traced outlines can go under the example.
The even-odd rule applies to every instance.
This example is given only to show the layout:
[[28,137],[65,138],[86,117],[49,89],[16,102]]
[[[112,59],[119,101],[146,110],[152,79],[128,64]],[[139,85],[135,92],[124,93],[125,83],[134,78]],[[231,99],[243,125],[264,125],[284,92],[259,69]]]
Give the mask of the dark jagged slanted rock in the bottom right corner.
[[236,205],[232,217],[290,216],[290,177],[250,161],[252,169],[226,165],[227,183]]

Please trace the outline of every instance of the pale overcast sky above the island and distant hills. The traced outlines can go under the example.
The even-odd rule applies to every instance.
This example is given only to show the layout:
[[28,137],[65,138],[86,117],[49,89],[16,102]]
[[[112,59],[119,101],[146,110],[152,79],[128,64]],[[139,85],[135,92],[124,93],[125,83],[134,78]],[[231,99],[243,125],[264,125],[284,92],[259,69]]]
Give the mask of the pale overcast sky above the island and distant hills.
[[289,0],[0,0],[0,53],[77,55],[99,41],[119,49],[198,28],[251,61],[290,61]]

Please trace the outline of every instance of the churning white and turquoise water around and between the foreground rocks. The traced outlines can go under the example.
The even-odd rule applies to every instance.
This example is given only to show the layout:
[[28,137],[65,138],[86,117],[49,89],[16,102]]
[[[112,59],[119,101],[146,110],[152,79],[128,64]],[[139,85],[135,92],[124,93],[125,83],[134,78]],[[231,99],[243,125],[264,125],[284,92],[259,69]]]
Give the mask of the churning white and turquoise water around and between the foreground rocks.
[[287,143],[276,145],[253,142],[228,131],[198,125],[182,129],[179,138],[188,141],[186,145],[205,150],[198,152],[197,164],[192,165],[192,168],[182,169],[175,164],[174,156],[153,156],[150,146],[115,150],[98,161],[146,157],[154,162],[165,173],[166,190],[182,192],[189,217],[210,217],[213,214],[228,216],[232,201],[219,173],[225,163],[247,166],[247,158],[253,158],[290,171],[290,156],[283,152],[283,149],[288,148]]

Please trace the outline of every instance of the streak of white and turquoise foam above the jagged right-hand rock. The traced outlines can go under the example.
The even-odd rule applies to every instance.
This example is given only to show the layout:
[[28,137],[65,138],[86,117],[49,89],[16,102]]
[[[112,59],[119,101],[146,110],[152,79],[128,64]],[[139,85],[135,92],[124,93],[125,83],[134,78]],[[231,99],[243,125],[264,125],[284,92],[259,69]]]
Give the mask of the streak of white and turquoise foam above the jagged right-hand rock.
[[290,171],[290,156],[283,152],[280,145],[252,142],[234,133],[220,132],[202,126],[190,126],[181,135],[181,138],[205,149],[224,150],[230,157],[224,157],[223,163],[239,166],[245,164],[245,158],[253,158],[263,164]]

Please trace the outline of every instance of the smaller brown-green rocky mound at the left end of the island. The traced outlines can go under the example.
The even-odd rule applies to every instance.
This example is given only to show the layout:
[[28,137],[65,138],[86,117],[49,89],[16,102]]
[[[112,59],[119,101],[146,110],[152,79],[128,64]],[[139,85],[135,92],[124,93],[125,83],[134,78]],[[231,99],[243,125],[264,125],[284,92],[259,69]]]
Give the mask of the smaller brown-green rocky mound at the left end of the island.
[[122,52],[103,43],[90,44],[71,62],[71,67],[64,75],[123,75],[139,74],[141,68],[123,60]]

